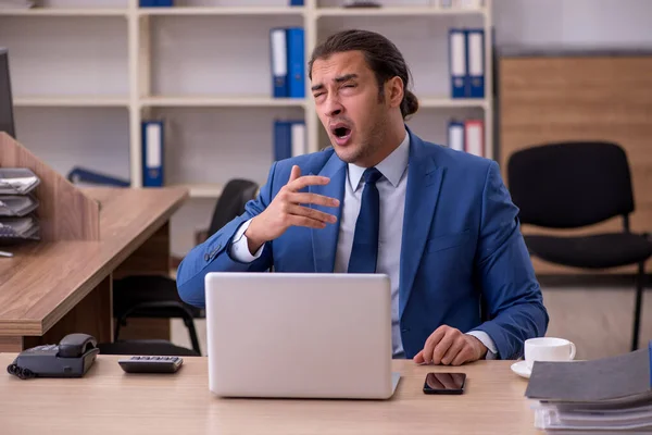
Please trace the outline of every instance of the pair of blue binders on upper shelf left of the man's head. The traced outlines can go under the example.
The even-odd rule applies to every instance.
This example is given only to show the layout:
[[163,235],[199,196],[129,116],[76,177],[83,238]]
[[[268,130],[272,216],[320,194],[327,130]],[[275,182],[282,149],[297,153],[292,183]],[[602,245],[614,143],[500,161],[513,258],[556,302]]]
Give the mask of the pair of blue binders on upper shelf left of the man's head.
[[273,98],[305,97],[305,53],[303,27],[275,27],[269,30]]

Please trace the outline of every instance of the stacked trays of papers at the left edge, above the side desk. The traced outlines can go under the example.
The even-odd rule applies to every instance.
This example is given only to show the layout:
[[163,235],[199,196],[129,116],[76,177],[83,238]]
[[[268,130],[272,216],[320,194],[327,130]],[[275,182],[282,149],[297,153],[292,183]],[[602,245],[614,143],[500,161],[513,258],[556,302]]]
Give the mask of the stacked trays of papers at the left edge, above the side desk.
[[0,244],[40,238],[39,202],[34,195],[39,184],[29,169],[0,169]]

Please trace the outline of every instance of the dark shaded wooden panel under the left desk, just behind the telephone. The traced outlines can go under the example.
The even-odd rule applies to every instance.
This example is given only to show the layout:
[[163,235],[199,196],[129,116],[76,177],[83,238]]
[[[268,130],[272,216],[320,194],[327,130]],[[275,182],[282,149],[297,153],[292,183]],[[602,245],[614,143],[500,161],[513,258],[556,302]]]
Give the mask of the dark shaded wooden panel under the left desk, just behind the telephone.
[[113,340],[112,283],[111,275],[102,279],[43,336],[18,337],[22,338],[22,347],[26,349],[38,345],[57,344],[61,338],[73,333],[92,335],[98,339],[98,343],[111,343]]

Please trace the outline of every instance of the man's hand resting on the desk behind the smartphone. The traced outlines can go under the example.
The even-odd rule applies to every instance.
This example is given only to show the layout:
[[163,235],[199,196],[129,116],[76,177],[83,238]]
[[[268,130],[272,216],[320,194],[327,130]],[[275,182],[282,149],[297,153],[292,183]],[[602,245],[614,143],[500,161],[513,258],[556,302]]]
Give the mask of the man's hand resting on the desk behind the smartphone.
[[447,325],[439,326],[414,356],[417,364],[462,365],[485,358],[487,347],[473,335]]

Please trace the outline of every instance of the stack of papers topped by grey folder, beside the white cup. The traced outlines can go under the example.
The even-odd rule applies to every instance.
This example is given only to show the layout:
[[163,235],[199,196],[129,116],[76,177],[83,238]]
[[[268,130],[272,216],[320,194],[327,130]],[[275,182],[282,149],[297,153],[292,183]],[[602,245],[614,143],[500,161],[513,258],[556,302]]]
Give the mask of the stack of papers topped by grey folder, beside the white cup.
[[592,361],[535,362],[525,395],[551,434],[652,432],[652,341]]

